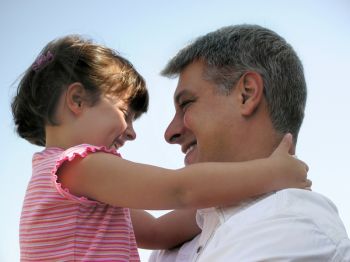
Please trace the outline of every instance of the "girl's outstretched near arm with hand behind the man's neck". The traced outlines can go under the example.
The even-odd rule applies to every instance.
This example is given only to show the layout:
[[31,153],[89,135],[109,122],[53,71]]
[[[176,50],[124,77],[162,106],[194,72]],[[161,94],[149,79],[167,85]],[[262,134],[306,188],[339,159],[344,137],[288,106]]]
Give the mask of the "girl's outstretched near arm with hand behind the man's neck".
[[59,180],[73,194],[134,209],[182,209],[228,205],[286,187],[310,186],[306,165],[289,155],[285,136],[265,159],[200,163],[178,170],[138,164],[108,153],[65,162]]

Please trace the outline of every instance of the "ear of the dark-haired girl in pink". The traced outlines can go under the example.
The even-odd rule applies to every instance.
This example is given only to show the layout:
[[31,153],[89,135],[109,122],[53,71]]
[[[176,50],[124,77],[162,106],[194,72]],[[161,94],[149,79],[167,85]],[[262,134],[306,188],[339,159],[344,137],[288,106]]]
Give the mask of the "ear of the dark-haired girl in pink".
[[66,93],[66,105],[74,114],[80,114],[85,106],[86,90],[84,86],[75,82],[68,86]]

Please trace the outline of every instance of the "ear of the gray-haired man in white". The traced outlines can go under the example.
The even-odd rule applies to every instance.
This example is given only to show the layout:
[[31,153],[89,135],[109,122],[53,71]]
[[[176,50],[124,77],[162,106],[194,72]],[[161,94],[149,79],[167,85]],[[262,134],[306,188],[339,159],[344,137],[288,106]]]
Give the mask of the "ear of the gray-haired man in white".
[[258,108],[264,95],[264,83],[261,75],[257,72],[245,73],[236,88],[238,88],[242,115],[252,115]]

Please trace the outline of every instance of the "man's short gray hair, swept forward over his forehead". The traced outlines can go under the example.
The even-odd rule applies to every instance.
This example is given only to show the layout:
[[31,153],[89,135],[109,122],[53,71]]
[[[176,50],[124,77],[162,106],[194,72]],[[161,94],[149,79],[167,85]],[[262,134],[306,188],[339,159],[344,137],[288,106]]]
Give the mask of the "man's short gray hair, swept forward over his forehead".
[[177,77],[194,61],[205,62],[204,78],[230,93],[247,71],[261,75],[274,128],[296,141],[304,118],[306,83],[293,48],[275,32],[257,25],[223,27],[180,50],[161,74]]

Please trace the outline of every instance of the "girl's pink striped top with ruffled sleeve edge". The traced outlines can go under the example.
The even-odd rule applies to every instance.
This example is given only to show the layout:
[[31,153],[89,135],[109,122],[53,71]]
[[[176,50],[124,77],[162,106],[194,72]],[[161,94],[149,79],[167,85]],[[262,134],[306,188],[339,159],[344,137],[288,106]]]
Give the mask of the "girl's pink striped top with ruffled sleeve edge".
[[103,147],[47,148],[33,156],[20,221],[21,261],[140,261],[129,209],[77,197],[57,182],[64,161]]

